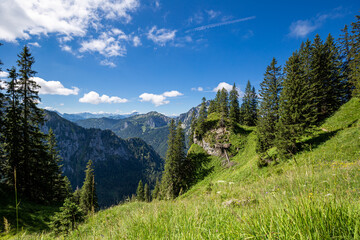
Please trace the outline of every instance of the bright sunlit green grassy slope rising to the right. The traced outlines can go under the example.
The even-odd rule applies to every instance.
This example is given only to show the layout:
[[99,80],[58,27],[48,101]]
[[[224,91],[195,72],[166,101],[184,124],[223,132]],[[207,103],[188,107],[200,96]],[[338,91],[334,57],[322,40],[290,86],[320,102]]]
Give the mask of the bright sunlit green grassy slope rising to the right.
[[[232,167],[209,156],[212,173],[178,199],[100,211],[67,238],[359,239],[359,109],[352,99],[304,136],[301,152],[265,168],[257,167],[254,128],[243,128]],[[198,145],[190,152],[204,154]],[[40,237],[54,235],[23,235]]]

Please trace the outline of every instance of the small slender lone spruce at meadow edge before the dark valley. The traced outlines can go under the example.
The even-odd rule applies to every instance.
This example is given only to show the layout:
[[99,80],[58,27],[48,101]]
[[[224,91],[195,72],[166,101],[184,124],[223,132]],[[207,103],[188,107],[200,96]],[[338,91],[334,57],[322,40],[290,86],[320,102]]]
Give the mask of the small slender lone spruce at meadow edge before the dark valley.
[[80,207],[84,214],[94,213],[98,208],[93,163],[88,161],[85,180],[80,192]]

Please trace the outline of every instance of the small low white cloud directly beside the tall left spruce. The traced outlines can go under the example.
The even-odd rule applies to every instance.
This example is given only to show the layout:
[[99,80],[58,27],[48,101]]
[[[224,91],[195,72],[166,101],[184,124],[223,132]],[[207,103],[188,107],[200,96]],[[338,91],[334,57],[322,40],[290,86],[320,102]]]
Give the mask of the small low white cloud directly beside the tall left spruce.
[[39,94],[49,95],[78,95],[79,88],[65,88],[59,81],[45,81],[42,78],[34,77],[35,82],[40,86]]

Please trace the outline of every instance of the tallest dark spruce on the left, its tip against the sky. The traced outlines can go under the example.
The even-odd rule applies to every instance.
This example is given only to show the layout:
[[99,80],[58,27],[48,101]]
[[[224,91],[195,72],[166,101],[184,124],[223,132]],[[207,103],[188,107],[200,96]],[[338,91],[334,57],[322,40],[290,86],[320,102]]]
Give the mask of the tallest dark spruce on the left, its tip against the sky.
[[[20,95],[20,109],[22,121],[22,151],[21,165],[17,169],[19,187],[29,198],[46,201],[47,179],[42,177],[44,158],[47,157],[45,135],[40,131],[44,123],[43,110],[37,107],[40,100],[38,96],[39,85],[33,77],[36,72],[32,70],[35,63],[30,49],[25,46],[18,55],[17,64],[19,75],[17,88]],[[45,190],[46,191],[46,190]]]

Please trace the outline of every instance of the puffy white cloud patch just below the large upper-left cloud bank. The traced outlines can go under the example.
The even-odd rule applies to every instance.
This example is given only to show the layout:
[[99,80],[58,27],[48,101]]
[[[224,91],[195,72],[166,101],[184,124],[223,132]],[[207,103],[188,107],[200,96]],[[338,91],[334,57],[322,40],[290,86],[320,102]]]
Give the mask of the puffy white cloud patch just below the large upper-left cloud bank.
[[98,52],[105,57],[125,56],[126,47],[120,41],[124,39],[124,36],[126,37],[122,31],[104,32],[98,39],[82,42],[79,51]]

